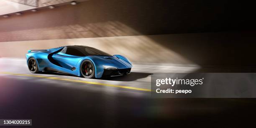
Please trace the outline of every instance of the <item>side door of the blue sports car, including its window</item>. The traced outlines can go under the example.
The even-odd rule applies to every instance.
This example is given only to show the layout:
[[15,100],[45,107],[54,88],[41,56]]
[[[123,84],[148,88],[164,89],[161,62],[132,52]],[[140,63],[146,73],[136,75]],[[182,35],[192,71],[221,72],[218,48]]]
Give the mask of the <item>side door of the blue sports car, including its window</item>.
[[56,53],[52,58],[57,62],[60,67],[75,71],[77,62],[83,57],[81,51],[71,47],[65,47],[59,53]]

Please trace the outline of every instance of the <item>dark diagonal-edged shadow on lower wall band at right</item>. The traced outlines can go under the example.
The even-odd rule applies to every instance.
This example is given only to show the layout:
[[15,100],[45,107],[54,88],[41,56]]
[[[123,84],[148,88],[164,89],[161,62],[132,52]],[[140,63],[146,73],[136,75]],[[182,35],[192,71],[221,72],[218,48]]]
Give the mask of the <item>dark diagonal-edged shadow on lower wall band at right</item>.
[[166,49],[202,65],[256,67],[256,32],[187,33],[149,36]]

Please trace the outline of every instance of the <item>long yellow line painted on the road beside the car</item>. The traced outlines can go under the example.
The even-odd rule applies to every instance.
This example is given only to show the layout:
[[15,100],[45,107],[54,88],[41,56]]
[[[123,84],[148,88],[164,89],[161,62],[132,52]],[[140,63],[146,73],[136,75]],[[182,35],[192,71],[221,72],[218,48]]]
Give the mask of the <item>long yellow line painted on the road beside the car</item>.
[[109,87],[119,87],[119,88],[125,88],[125,89],[130,89],[130,90],[140,90],[140,91],[151,92],[150,89],[145,89],[145,88],[128,87],[128,86],[114,85],[114,84],[104,84],[104,83],[99,83],[99,82],[89,82],[89,81],[83,81],[83,80],[77,80],[77,79],[66,79],[66,78],[58,78],[58,77],[46,77],[46,76],[32,75],[32,74],[15,74],[15,73],[10,73],[10,72],[1,72],[1,74],[11,74],[11,75],[25,76],[25,77],[40,77],[40,78],[45,78],[45,79],[57,79],[57,80],[64,80],[64,81],[69,81],[69,82],[95,84],[95,85],[102,85],[102,86],[109,86]]

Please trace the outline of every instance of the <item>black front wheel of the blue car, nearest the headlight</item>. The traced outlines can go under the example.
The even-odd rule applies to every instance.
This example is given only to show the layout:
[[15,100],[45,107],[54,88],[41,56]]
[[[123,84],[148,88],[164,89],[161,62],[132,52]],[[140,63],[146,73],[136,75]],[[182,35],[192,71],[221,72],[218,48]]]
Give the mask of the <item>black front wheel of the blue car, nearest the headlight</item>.
[[80,72],[84,78],[95,78],[95,67],[92,64],[92,61],[83,61],[80,66]]

